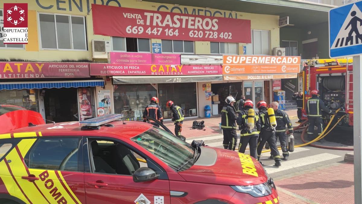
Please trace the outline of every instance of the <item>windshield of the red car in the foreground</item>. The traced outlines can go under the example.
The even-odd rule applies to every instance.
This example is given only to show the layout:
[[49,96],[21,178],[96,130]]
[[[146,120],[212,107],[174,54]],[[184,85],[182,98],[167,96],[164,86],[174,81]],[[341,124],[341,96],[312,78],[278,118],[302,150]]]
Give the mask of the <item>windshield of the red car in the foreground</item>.
[[175,170],[193,159],[194,148],[190,144],[157,127],[153,127],[131,140],[150,151]]

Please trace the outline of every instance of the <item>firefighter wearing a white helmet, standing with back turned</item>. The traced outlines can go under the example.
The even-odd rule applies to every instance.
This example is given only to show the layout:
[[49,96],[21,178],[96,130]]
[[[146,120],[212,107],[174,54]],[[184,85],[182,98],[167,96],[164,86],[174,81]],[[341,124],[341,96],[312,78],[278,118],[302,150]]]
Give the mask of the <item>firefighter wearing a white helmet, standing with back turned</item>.
[[228,96],[225,99],[226,104],[221,110],[221,129],[223,130],[224,140],[223,146],[224,149],[229,149],[235,151],[237,143],[236,135],[236,119],[237,114],[235,113],[235,98]]

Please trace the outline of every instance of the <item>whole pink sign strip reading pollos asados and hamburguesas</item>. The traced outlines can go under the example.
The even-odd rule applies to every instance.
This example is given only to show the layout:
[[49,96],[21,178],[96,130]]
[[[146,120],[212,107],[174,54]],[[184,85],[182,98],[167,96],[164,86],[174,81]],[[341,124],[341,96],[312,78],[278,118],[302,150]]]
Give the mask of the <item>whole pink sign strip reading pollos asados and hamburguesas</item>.
[[180,54],[110,52],[108,60],[109,60],[110,64],[179,65],[179,64],[181,64],[181,55]]

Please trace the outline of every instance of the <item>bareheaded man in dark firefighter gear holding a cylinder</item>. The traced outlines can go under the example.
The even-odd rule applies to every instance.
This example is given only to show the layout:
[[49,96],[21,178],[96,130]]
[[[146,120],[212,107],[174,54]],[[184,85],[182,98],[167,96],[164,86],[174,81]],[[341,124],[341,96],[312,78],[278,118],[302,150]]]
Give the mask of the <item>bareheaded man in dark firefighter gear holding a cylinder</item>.
[[[287,134],[286,134],[286,130],[285,130],[285,126],[288,126],[288,130],[290,134],[293,134],[293,126],[292,123],[290,122],[289,116],[288,114],[279,109],[279,103],[278,102],[273,102],[271,103],[271,108],[274,109],[274,113],[275,113],[275,118],[277,119],[277,127],[275,128],[275,136],[276,138],[279,138],[279,142],[280,142],[280,146],[282,148],[282,152],[283,152],[283,160],[288,160],[289,159],[289,152],[288,152],[288,147],[287,147]],[[270,158],[274,158],[275,155],[273,155],[271,153]]]

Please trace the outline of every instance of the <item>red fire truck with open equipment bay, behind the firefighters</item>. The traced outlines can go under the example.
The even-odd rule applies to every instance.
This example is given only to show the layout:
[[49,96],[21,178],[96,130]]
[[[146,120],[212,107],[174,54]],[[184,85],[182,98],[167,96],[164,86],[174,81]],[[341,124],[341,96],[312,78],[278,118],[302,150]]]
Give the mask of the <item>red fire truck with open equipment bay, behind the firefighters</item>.
[[[329,109],[332,111],[341,109],[338,119],[346,114],[338,126],[353,128],[352,58],[307,60],[303,64],[302,119],[307,119],[306,103],[312,97],[311,91],[316,89],[319,91],[319,98]],[[328,123],[331,115],[323,112],[322,118],[325,123]]]

